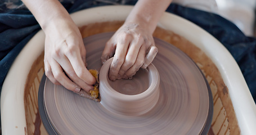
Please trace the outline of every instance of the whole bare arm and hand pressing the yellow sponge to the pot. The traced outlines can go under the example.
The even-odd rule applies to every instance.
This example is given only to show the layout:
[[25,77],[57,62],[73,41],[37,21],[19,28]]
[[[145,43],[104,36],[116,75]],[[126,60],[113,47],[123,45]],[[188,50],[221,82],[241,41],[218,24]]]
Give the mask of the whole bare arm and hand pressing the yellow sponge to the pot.
[[[23,0],[46,34],[44,69],[55,84],[79,92],[93,89],[95,78],[86,69],[82,35],[68,11],[57,0]],[[68,77],[65,75],[65,73]]]

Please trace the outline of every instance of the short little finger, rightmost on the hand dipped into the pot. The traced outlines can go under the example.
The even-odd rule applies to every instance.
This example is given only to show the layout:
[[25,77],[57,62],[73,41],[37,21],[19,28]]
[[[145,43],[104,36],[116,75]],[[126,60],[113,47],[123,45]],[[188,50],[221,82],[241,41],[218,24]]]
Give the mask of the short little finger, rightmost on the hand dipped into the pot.
[[151,46],[149,53],[147,53],[147,55],[145,57],[145,62],[142,65],[143,69],[146,69],[147,66],[149,66],[151,64],[151,62],[154,60],[157,53],[158,53],[158,48],[156,48],[155,46]]

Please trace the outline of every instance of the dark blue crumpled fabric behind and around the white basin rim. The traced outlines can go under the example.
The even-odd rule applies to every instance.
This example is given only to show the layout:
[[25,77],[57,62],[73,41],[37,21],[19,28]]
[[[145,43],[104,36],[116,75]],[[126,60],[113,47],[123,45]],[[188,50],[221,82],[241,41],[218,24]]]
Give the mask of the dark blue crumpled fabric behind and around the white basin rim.
[[[114,2],[114,3],[113,3]],[[123,1],[122,1],[123,2]],[[122,3],[119,2],[119,3]],[[83,1],[62,2],[69,13],[89,7],[116,4],[118,1],[100,2]],[[125,1],[122,4],[135,4],[136,1]],[[26,9],[3,11],[0,4],[0,89],[3,80],[16,56],[33,37],[40,26],[33,15]],[[256,39],[246,37],[232,22],[214,13],[195,10],[170,4],[167,9],[178,16],[194,22],[217,38],[239,64],[242,74],[248,84],[251,95],[256,100]],[[172,23],[172,21],[170,21]],[[196,33],[195,33],[196,34]]]

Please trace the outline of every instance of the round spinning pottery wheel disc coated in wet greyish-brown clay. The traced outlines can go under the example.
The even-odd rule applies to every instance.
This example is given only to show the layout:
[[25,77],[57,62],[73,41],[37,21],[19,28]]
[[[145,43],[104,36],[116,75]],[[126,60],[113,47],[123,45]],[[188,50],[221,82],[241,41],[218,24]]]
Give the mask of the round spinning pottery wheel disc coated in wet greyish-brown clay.
[[[101,53],[114,33],[84,38],[88,69],[101,68]],[[45,76],[38,94],[39,113],[49,134],[207,134],[213,115],[212,93],[195,63],[178,48],[155,38],[153,64],[160,74],[160,97],[149,113],[118,115],[100,102],[56,86]]]

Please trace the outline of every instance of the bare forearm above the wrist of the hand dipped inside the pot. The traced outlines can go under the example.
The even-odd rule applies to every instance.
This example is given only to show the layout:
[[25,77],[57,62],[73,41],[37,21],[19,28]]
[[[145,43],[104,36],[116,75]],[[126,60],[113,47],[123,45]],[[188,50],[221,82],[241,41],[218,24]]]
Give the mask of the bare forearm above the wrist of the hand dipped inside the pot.
[[125,22],[141,22],[141,25],[146,26],[153,33],[170,2],[172,0],[139,0]]

